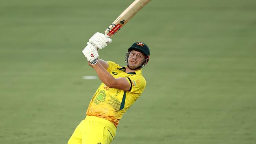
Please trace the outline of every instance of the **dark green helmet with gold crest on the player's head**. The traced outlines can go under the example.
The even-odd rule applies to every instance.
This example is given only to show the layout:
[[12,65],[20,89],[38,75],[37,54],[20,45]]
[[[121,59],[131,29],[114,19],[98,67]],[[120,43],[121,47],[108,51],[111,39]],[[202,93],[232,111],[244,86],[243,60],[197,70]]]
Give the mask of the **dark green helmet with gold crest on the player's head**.
[[144,54],[146,57],[145,63],[146,64],[148,63],[150,51],[149,51],[147,44],[145,44],[144,42],[135,42],[134,44],[132,44],[132,46],[130,48],[128,48],[128,52],[131,52],[132,50],[136,50],[136,51]]

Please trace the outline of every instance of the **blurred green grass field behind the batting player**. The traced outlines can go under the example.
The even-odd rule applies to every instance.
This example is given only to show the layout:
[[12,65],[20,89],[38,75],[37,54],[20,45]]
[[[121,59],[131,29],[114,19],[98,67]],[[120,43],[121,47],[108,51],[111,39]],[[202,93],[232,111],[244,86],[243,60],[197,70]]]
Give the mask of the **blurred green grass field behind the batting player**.
[[[0,5],[0,143],[65,144],[100,80],[82,49],[133,0]],[[100,51],[150,47],[147,87],[113,144],[255,144],[256,1],[152,0]]]

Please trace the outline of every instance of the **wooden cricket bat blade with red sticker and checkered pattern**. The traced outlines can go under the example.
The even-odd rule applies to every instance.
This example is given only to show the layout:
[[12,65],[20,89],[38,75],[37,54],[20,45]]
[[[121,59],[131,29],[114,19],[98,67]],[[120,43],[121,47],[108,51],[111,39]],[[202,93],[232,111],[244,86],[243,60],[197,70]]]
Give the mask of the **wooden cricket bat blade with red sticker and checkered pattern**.
[[135,0],[127,7],[119,17],[107,28],[105,35],[112,37],[119,31],[134,15],[151,0]]

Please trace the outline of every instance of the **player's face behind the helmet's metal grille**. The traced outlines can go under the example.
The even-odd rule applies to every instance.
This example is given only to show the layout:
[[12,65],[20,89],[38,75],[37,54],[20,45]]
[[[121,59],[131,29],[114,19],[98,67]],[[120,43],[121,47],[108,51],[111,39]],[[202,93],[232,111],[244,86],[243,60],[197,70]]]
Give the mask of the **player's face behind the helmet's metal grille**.
[[129,53],[128,57],[128,63],[131,68],[137,68],[138,66],[141,66],[145,61],[145,55],[141,52],[132,50]]

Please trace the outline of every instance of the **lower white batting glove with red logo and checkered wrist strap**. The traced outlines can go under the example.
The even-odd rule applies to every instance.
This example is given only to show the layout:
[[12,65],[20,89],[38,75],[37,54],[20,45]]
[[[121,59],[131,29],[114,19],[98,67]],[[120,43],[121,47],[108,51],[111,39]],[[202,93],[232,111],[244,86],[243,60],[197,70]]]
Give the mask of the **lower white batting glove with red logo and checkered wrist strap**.
[[87,60],[92,64],[96,64],[98,62],[98,50],[90,43],[87,42],[87,46],[83,49],[83,55],[87,58]]

